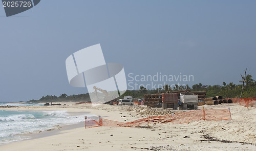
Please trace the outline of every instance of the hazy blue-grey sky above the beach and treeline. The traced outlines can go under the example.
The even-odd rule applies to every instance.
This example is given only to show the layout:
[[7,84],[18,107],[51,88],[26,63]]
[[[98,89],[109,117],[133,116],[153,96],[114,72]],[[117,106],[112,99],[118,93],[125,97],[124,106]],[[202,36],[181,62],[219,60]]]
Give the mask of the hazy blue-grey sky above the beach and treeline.
[[0,101],[87,93],[69,85],[65,61],[95,44],[106,62],[123,64],[127,80],[182,73],[194,76],[183,82],[190,86],[239,84],[246,68],[256,79],[255,8],[255,1],[55,0],[6,17],[0,7]]

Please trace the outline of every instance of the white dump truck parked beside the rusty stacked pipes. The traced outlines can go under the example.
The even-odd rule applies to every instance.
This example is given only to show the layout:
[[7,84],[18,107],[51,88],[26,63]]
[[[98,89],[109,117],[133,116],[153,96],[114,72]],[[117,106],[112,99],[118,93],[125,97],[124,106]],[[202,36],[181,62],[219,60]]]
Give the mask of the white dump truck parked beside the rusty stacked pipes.
[[180,93],[180,109],[186,110],[187,108],[190,109],[197,109],[198,103],[198,95],[194,95],[193,93]]

